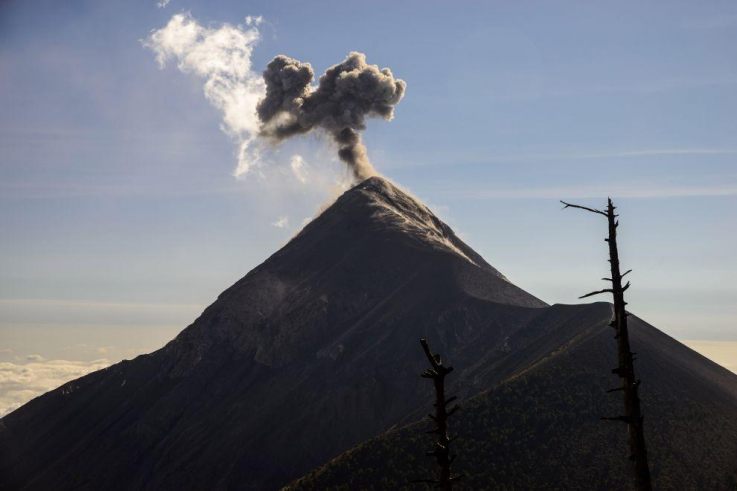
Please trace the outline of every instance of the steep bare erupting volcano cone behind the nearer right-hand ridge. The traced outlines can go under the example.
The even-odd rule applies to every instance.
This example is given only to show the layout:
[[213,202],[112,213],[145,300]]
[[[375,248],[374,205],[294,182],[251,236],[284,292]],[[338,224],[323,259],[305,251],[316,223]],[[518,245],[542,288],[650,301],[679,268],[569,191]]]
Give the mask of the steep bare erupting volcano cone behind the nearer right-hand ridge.
[[[456,366],[452,390],[470,398],[585,354],[593,348],[575,340],[609,316],[607,304],[548,307],[371,178],[161,350],[0,420],[0,488],[275,489],[427,411],[420,337]],[[660,349],[652,336],[648,349]],[[587,356],[597,373],[613,363]],[[702,358],[684,370],[690,387],[729,394],[719,407],[733,414],[734,377]]]

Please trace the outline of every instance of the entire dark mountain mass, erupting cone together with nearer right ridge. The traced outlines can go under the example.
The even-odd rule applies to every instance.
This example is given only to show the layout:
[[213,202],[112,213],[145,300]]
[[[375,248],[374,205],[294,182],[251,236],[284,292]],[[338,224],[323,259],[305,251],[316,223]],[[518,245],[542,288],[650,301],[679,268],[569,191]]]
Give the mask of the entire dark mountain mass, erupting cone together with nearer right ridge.
[[[373,489],[403,487],[424,463],[392,474],[401,459],[390,465],[392,452],[372,449],[423,460],[414,431],[433,394],[418,376],[420,338],[456,368],[450,390],[464,401],[462,434],[481,442],[476,452],[502,432],[508,448],[489,454],[526,455],[514,469],[538,469],[529,479],[563,488],[588,480],[587,489],[624,482],[626,432],[597,412],[619,402],[602,390],[616,384],[610,317],[606,303],[548,306],[373,177],[162,349],[0,420],[0,489],[258,490],[301,476],[291,487],[361,489],[358,471],[377,465],[385,472],[366,474]],[[657,482],[728,485],[737,476],[737,376],[642,321],[631,330],[646,428],[658,432]],[[667,420],[650,423],[659,418]],[[515,436],[509,425],[536,430]],[[579,441],[594,453],[550,470]],[[494,482],[538,482],[505,476]]]

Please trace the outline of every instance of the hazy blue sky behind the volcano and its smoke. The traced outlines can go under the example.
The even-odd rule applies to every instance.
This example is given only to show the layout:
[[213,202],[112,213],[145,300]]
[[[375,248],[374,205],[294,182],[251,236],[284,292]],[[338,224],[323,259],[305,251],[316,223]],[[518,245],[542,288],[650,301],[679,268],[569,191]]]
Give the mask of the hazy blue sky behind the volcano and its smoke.
[[[557,200],[611,195],[632,310],[678,339],[737,342],[734,2],[10,0],[10,361],[115,361],[161,346],[345,178],[315,136],[271,152],[262,176],[233,177],[237,147],[203,79],[161,69],[142,42],[185,12],[209,29],[263,16],[256,72],[286,54],[319,74],[350,51],[391,68],[407,93],[393,121],[364,134],[375,167],[531,293],[574,303],[597,289],[604,223]],[[289,174],[295,154],[312,184]]]

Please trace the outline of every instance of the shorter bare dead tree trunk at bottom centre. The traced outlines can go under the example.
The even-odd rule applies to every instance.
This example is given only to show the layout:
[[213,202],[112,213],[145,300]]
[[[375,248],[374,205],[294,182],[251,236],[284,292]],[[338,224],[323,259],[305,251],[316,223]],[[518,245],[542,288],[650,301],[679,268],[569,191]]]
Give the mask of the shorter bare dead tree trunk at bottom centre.
[[457,397],[445,398],[445,376],[453,371],[453,367],[446,367],[443,365],[439,354],[432,354],[430,346],[424,339],[420,340],[422,349],[425,350],[425,355],[430,362],[431,368],[428,368],[420,375],[422,378],[432,379],[435,385],[435,415],[429,414],[430,419],[437,423],[438,427],[428,433],[436,433],[438,438],[435,442],[435,449],[431,452],[427,452],[428,457],[435,457],[437,461],[437,479],[418,479],[416,483],[434,484],[436,488],[442,489],[443,491],[450,491],[453,489],[453,483],[458,479],[461,479],[462,475],[454,476],[451,471],[451,464],[455,461],[456,456],[450,453],[450,443],[455,440],[456,437],[448,438],[448,418],[458,410],[458,404],[448,410],[448,404],[455,401]]

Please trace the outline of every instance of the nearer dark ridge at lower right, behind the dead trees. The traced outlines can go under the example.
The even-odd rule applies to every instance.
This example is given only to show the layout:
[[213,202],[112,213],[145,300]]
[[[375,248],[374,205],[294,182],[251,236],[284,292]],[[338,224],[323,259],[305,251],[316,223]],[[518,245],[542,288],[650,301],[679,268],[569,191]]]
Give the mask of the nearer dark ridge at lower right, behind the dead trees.
[[[736,489],[737,375],[630,319],[654,489]],[[622,407],[619,393],[605,393],[618,382],[605,369],[616,360],[611,329],[598,324],[568,337],[451,419],[454,471],[465,474],[459,489],[632,488],[626,431],[600,420]],[[431,426],[419,421],[364,442],[286,489],[421,489],[409,483],[434,476],[424,456]]]

